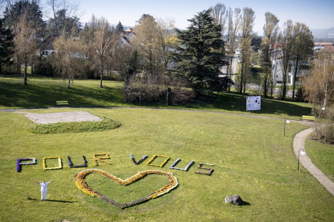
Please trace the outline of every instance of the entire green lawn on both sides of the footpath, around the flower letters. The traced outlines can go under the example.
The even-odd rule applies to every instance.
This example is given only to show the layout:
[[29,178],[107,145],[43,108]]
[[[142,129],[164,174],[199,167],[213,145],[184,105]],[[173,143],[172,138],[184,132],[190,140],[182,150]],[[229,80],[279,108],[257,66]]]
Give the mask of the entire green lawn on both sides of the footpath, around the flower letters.
[[[34,109],[27,112],[87,111],[119,127],[104,131],[95,124],[57,125],[57,132],[48,127],[39,130],[22,113],[0,112],[0,221],[332,221],[334,197],[302,166],[297,172],[297,159],[292,142],[296,133],[307,127],[282,119],[240,116],[264,115],[299,119],[309,114],[307,104],[263,99],[262,110],[246,112],[246,96],[221,93],[202,97],[182,107],[134,106],[123,102],[122,83],[98,80],[75,80],[72,89],[66,89],[62,79],[31,77],[28,86],[22,78],[0,76],[0,109],[54,107],[56,100],[68,100],[69,108]],[[76,108],[86,107],[86,108]],[[119,108],[104,108],[119,107]],[[125,108],[122,108],[125,107]],[[142,109],[173,108],[192,110]],[[194,112],[195,110],[195,112]],[[197,111],[196,111],[197,110]],[[228,112],[202,112],[202,111]],[[88,128],[87,130],[83,130]],[[35,129],[32,131],[32,129]],[[78,129],[70,132],[67,129]],[[34,133],[32,133],[34,132]],[[311,147],[317,147],[325,174],[332,175],[331,149],[321,148],[307,141],[306,151],[313,158]],[[107,163],[94,162],[94,154],[109,155]],[[129,154],[138,161],[135,165]],[[83,157],[87,167],[82,165]],[[153,155],[168,156],[162,167],[146,163]],[[317,154],[318,155],[318,154]],[[316,155],[314,155],[317,157]],[[61,157],[62,169],[43,170],[43,157]],[[22,165],[16,172],[16,159],[36,158],[35,165]],[[188,171],[184,168],[194,160]],[[327,161],[328,160],[328,161]],[[151,164],[160,165],[163,157]],[[47,167],[57,167],[58,159],[47,159]],[[212,175],[202,167],[213,169]],[[316,163],[317,165],[317,163]],[[318,165],[317,165],[318,166]],[[85,169],[101,169],[121,179],[139,171],[161,170],[171,172],[178,186],[155,199],[119,209],[92,197],[75,184],[74,177]],[[40,186],[33,181],[54,180],[48,186],[49,201],[40,201]],[[98,174],[85,177],[88,186],[119,203],[134,201],[168,183],[162,175],[150,174],[126,187],[117,185]],[[227,195],[240,195],[246,205],[225,204]]]

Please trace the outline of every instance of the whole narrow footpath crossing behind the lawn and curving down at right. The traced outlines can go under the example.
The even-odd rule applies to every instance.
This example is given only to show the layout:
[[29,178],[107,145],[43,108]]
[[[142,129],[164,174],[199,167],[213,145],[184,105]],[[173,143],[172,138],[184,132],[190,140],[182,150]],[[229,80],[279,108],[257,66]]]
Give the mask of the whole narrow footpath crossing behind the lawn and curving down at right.
[[[52,109],[51,108],[41,108],[41,109]],[[98,108],[98,107],[71,107],[71,108]],[[130,107],[99,107],[99,108],[108,108],[108,109],[154,109],[154,108],[130,108]],[[38,108],[35,108],[38,109]],[[64,109],[66,109],[64,107]],[[0,110],[0,112],[15,112],[15,113],[22,113],[22,114],[28,114],[29,112],[26,112],[28,110],[32,109],[7,109],[7,110]],[[205,111],[205,110],[183,110],[183,109],[163,109],[163,110],[174,110],[174,111],[189,111],[189,112],[209,112],[209,113],[220,113],[220,114],[228,114],[228,115],[242,115],[242,116],[248,116],[253,118],[270,118],[270,119],[280,119],[285,120],[282,118],[276,118],[276,117],[268,117],[268,116],[257,116],[257,115],[249,115],[249,114],[242,114],[242,113],[226,113],[226,112],[217,112],[217,111]],[[73,116],[75,117],[75,116]],[[291,120],[291,122],[300,123],[308,126],[312,126],[313,123],[310,122],[301,122],[296,120]],[[313,128],[306,129],[302,132],[297,133],[293,138],[293,151],[296,157],[298,158],[298,154],[300,149],[305,150],[305,139],[307,135],[313,132]],[[306,152],[306,151],[305,151]],[[332,195],[334,195],[334,183],[325,175],[323,172],[321,172],[314,164],[312,164],[311,159],[305,154],[300,155],[300,164],[303,165],[316,179],[319,181],[321,185],[323,185]]]

